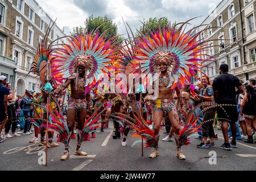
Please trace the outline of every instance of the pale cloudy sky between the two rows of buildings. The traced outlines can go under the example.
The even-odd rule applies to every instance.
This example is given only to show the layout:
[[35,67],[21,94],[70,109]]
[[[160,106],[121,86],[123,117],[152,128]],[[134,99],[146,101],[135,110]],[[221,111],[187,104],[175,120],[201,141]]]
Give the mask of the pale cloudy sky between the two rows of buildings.
[[133,31],[143,19],[166,16],[171,22],[201,16],[192,24],[200,24],[221,0],[36,0],[57,25],[66,33],[72,27],[84,26],[90,16],[109,15],[118,26],[119,34],[125,34],[122,18]]

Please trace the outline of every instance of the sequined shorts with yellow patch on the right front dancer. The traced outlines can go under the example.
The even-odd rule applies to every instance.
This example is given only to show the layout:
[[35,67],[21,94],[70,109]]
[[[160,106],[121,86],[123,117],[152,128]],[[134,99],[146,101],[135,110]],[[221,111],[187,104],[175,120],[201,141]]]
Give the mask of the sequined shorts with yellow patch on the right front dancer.
[[163,111],[164,113],[170,113],[171,111],[177,111],[173,99],[157,99],[153,101],[154,110]]

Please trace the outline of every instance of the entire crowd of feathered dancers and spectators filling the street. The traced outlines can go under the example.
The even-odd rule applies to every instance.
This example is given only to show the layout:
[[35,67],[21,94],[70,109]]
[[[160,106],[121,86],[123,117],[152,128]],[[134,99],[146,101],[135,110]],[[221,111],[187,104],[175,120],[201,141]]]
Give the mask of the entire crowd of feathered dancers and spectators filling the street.
[[[255,80],[244,88],[228,73],[228,65],[221,64],[220,75],[212,82],[203,74],[196,86],[192,85],[191,77],[197,77],[196,71],[202,66],[199,62],[209,61],[198,59],[200,52],[210,46],[197,39],[200,32],[181,31],[190,20],[159,28],[150,35],[141,33],[134,40],[127,39],[126,46],[115,38],[106,39],[105,33],[100,35],[97,30],[61,38],[67,40],[61,48],[48,46],[49,26],[29,72],[39,78],[40,93],[26,90],[23,97],[15,98],[16,91],[11,90],[5,76],[0,76],[0,131],[5,128],[0,142],[20,137],[17,126],[23,135],[32,134],[34,126],[34,138],[28,142],[46,147],[57,147],[61,142],[64,154],[60,160],[68,160],[70,139],[77,138],[75,155],[86,156],[81,143],[90,140],[90,135],[95,138],[100,124],[104,132],[113,121],[113,139],[122,134],[121,145],[126,146],[133,130],[134,137],[143,138],[144,145],[152,148],[152,159],[160,156],[163,126],[168,135],[162,140],[175,138],[180,160],[186,159],[181,147],[197,132],[196,139],[201,141],[195,147],[215,147],[218,136],[213,126],[219,124],[224,136],[221,149],[236,148],[237,139],[254,143]],[[53,132],[57,142],[53,142]]]

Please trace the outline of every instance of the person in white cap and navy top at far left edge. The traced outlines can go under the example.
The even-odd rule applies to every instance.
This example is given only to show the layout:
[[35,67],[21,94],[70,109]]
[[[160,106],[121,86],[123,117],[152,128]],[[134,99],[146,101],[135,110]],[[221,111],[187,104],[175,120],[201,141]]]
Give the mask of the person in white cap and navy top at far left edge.
[[6,77],[1,75],[0,76],[0,143],[5,140],[5,136],[1,135],[3,127],[5,127],[5,124],[7,122],[8,116],[7,116],[7,105],[8,100],[7,97],[10,94],[10,90],[5,86],[6,85]]

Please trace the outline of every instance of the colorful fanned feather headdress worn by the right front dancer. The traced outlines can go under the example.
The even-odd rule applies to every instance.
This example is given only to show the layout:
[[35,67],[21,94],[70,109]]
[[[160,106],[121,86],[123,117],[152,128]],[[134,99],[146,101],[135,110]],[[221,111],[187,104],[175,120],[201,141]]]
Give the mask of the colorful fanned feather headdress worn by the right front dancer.
[[180,27],[175,24],[162,30],[159,28],[158,31],[150,31],[151,35],[142,34],[135,47],[136,72],[139,72],[139,64],[141,64],[142,73],[154,75],[159,73],[160,63],[167,64],[170,78],[168,87],[172,86],[172,88],[184,85],[185,81],[190,82],[192,76],[197,77],[195,71],[201,72],[199,67],[203,67],[197,62],[209,61],[209,57],[212,58],[205,55],[207,59],[200,59],[200,56],[204,55],[203,51],[210,47],[207,42],[213,40],[198,39],[200,32],[195,33],[197,27],[185,32],[183,27],[190,20],[178,23],[181,24]]

